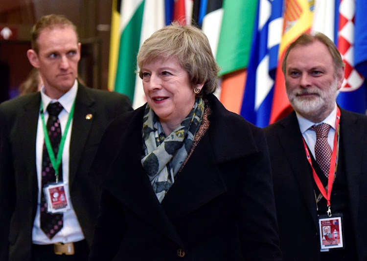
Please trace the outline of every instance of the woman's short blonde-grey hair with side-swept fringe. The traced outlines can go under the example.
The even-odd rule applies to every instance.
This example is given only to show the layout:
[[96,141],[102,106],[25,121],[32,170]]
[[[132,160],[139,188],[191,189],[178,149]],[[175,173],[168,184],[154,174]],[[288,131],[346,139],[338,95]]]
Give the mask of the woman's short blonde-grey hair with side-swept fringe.
[[[191,25],[173,22],[156,31],[140,47],[137,62],[141,68],[144,63],[159,58],[174,57],[187,71],[192,84],[204,83],[198,96],[213,93],[217,86],[220,70],[211,52],[209,41],[202,30]],[[139,72],[142,78],[142,72]]]

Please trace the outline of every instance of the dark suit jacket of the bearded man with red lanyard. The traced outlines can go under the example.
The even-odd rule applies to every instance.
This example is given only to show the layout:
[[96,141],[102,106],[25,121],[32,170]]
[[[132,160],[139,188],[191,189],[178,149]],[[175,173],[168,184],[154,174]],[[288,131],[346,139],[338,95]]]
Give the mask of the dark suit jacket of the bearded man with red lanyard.
[[[285,261],[320,260],[313,177],[296,113],[265,129],[272,163],[280,247]],[[341,109],[340,156],[344,157],[351,223],[359,260],[367,260],[367,117]],[[341,158],[339,158],[339,161]],[[331,198],[332,200],[332,198]],[[362,213],[364,213],[362,215]],[[296,236],[295,236],[296,235]]]

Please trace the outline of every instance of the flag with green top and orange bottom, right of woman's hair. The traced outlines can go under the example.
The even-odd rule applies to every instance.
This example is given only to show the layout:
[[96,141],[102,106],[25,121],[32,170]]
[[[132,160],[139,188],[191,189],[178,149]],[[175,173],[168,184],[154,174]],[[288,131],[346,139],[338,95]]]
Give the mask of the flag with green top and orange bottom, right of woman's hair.
[[239,113],[249,63],[257,0],[224,0],[216,60],[222,67],[220,100]]

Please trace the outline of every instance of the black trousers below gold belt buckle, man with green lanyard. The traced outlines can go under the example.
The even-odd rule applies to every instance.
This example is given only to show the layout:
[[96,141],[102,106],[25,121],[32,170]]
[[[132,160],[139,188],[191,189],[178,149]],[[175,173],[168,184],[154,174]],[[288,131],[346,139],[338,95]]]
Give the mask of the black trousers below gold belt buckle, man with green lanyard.
[[31,261],[88,261],[89,247],[87,241],[74,242],[74,250],[74,255],[56,255],[53,244],[33,244]]

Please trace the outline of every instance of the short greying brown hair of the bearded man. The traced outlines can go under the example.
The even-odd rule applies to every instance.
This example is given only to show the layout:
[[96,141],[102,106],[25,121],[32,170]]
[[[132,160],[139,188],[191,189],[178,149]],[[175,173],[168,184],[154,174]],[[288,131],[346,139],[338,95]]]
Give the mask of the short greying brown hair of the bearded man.
[[320,41],[329,50],[329,53],[330,53],[331,57],[333,58],[334,73],[336,73],[338,69],[344,67],[345,64],[344,64],[344,61],[342,59],[342,56],[341,56],[340,52],[338,51],[338,48],[335,46],[334,42],[332,40],[330,40],[326,35],[324,35],[322,33],[316,33],[315,35],[311,35],[311,34],[308,34],[308,33],[303,33],[294,42],[292,42],[289,45],[287,51],[285,52],[283,63],[282,63],[282,71],[283,71],[284,75],[286,73],[286,71],[285,71],[286,68],[285,67],[286,67],[286,62],[287,62],[289,52],[293,48],[295,48],[296,46],[310,45],[310,44],[314,43],[315,41]]

